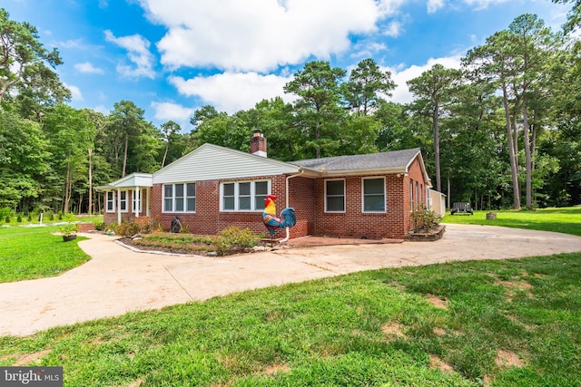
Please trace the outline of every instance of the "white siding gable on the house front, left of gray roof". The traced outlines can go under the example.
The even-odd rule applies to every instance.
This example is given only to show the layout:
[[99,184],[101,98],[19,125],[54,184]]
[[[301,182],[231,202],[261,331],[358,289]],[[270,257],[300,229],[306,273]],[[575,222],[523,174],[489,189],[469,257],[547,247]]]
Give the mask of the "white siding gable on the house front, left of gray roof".
[[299,167],[240,150],[203,144],[153,173],[153,184],[213,179],[244,179],[299,172]]

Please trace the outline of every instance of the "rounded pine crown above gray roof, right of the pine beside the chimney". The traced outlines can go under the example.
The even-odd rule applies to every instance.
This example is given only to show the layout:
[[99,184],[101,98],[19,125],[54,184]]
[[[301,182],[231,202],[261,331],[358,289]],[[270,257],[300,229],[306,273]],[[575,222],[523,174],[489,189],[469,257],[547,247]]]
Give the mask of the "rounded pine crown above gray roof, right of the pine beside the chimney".
[[368,115],[379,108],[379,102],[384,101],[379,93],[391,96],[396,84],[391,81],[389,71],[382,72],[378,64],[371,58],[364,59],[349,76],[349,81],[343,83],[343,95],[352,111]]

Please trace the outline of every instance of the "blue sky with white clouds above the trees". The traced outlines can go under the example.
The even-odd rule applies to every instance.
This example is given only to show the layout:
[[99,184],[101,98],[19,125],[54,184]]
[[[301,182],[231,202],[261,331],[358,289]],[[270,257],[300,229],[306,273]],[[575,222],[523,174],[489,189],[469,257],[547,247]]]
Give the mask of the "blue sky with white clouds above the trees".
[[310,61],[347,70],[373,58],[412,101],[406,82],[460,58],[518,16],[554,31],[570,5],[550,0],[0,0],[33,24],[71,90],[70,105],[108,114],[128,100],[159,127],[192,130],[204,105],[232,114],[283,87]]

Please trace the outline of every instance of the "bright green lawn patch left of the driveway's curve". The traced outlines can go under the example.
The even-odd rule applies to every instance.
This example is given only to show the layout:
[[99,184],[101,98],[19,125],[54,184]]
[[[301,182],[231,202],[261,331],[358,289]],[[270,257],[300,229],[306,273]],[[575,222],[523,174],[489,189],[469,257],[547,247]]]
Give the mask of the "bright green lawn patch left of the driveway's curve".
[[0,227],[0,283],[58,276],[90,259],[58,227]]

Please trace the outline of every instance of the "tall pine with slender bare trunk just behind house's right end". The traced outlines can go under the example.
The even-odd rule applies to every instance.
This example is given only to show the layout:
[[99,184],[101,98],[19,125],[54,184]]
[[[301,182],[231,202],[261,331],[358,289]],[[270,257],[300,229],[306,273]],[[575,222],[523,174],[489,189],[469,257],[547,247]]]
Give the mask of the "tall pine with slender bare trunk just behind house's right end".
[[434,131],[434,160],[436,164],[436,189],[441,189],[439,120],[445,113],[462,73],[459,70],[447,69],[441,64],[434,64],[430,70],[418,78],[408,81],[409,91],[419,100],[414,102],[420,114],[429,115]]

